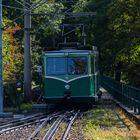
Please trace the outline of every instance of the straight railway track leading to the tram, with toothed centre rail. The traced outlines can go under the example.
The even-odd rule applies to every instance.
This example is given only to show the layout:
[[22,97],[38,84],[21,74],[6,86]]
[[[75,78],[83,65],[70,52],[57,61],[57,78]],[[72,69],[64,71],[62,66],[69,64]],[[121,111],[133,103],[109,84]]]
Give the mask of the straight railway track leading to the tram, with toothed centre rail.
[[[80,113],[79,110],[78,111],[72,110],[72,111],[66,111],[66,112],[60,114],[53,121],[50,128],[48,128],[48,130],[46,131],[46,133],[42,137],[42,140],[55,139],[55,135],[57,135],[56,133],[58,133],[59,128],[62,127],[63,123],[66,123],[67,126],[65,128],[65,131],[63,131],[63,133],[61,132],[61,138],[59,137],[59,139],[66,140],[66,138],[68,137],[68,134],[70,132],[71,126],[74,123],[74,121],[76,120],[76,118],[78,117],[79,113]],[[40,133],[41,129],[43,127],[45,128],[47,122],[48,122],[48,118],[46,118],[46,120],[44,122],[42,122],[42,124],[40,124],[40,126],[38,126],[38,128],[30,135],[28,140],[35,139],[35,137],[38,135],[38,133]]]

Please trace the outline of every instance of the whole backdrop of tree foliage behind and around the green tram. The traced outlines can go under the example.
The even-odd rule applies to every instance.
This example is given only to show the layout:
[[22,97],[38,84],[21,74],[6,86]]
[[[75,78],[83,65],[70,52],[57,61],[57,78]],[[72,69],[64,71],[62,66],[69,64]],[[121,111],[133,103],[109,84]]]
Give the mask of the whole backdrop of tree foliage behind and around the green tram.
[[[32,0],[33,3],[40,0]],[[5,5],[13,5],[22,8],[12,0],[4,1]],[[70,8],[70,9],[69,9]],[[96,12],[96,16],[65,19],[58,14],[69,12]],[[11,12],[10,12],[11,11]],[[72,5],[61,1],[49,0],[47,3],[36,6],[32,12],[48,13],[49,16],[32,17],[32,64],[41,64],[42,50],[46,47],[55,47],[60,39],[61,23],[83,23],[87,35],[87,45],[95,45],[100,52],[100,71],[109,76],[114,76],[114,66],[121,62],[122,80],[139,87],[139,56],[140,56],[140,1],[139,0],[78,0]],[[10,13],[10,14],[9,14]],[[13,19],[22,11],[4,8],[4,15]],[[16,21],[21,22],[23,19]],[[8,21],[9,22],[9,21]],[[17,30],[16,30],[17,31]],[[16,32],[15,31],[15,32]],[[15,34],[13,32],[12,34]],[[13,35],[4,33],[4,63],[6,59],[12,64],[11,57],[6,56],[10,52]],[[19,35],[19,33],[18,33]],[[71,40],[80,38],[80,30],[77,28],[77,37],[70,35]],[[18,38],[22,38],[21,34]],[[12,39],[13,40],[13,39]],[[18,42],[15,40],[14,42]],[[18,46],[18,43],[16,43]],[[16,49],[18,50],[18,49]],[[20,49],[19,49],[20,50]],[[19,51],[20,52],[20,51]],[[8,53],[10,54],[10,53]],[[6,56],[6,57],[5,57]],[[8,58],[7,58],[8,57]],[[22,63],[15,61],[18,64]],[[16,64],[16,66],[18,65]],[[14,65],[14,64],[13,64]],[[17,69],[17,70],[15,70]],[[19,67],[13,67],[14,73],[20,71]],[[33,67],[33,75],[35,68]],[[12,77],[12,76],[11,76]],[[13,76],[14,77],[14,76]],[[36,77],[36,76],[35,76]],[[35,78],[36,79],[36,78]]]

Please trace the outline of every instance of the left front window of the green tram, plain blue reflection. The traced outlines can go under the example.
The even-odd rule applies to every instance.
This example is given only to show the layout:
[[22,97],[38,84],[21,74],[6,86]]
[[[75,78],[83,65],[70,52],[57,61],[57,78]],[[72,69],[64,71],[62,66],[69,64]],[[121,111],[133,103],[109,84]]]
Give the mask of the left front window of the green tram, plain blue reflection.
[[63,57],[47,58],[47,75],[66,74],[66,60]]

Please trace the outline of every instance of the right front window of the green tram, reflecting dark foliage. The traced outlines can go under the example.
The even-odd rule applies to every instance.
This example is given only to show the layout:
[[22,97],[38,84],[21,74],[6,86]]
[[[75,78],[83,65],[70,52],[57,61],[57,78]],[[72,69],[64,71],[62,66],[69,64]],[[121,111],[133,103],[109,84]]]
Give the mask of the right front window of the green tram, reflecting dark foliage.
[[87,74],[87,58],[86,57],[68,58],[68,74],[69,75]]

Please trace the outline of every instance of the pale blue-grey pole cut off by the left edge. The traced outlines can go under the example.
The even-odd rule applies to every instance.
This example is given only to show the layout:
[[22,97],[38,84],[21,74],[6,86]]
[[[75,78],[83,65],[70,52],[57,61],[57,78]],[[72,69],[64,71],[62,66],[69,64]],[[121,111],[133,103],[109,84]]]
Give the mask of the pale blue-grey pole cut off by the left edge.
[[2,0],[0,0],[0,114],[3,113]]

